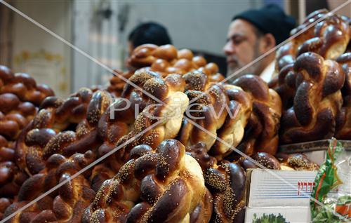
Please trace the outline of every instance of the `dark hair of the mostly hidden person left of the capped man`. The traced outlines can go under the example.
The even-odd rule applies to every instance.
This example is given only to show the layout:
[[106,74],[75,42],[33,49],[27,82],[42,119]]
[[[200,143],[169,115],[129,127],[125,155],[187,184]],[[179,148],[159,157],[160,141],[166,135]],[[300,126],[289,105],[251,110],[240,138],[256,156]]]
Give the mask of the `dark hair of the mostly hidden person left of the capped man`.
[[152,43],[157,46],[172,44],[166,27],[156,22],[145,22],[135,27],[128,36],[129,55],[137,46]]

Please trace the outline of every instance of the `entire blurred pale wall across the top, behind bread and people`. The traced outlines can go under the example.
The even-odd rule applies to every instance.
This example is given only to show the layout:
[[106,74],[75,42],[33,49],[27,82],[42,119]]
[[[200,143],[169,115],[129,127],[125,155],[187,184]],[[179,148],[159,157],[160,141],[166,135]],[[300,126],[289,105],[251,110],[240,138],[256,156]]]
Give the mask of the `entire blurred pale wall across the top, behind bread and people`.
[[[91,59],[112,69],[124,69],[129,32],[140,22],[154,21],[168,28],[177,48],[190,48],[215,60],[223,72],[227,27],[237,13],[277,4],[301,22],[311,11],[333,9],[345,1],[6,0],[77,48],[0,4],[0,64],[15,72],[28,72],[65,96],[83,86],[104,85],[110,79],[112,74]],[[350,12],[351,5],[339,13],[350,16]]]

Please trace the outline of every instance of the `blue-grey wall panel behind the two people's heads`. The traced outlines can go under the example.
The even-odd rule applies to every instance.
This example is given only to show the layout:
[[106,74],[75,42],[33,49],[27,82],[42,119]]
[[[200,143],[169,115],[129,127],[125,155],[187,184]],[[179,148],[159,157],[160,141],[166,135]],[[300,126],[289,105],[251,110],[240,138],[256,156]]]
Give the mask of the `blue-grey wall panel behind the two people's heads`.
[[[262,5],[256,0],[74,1],[73,41],[104,65],[124,69],[128,34],[141,22],[154,21],[168,28],[177,48],[207,55],[225,68],[222,48],[230,20],[240,11]],[[74,60],[74,89],[106,83],[111,76],[80,53],[74,52]],[[79,81],[85,76],[87,82]]]

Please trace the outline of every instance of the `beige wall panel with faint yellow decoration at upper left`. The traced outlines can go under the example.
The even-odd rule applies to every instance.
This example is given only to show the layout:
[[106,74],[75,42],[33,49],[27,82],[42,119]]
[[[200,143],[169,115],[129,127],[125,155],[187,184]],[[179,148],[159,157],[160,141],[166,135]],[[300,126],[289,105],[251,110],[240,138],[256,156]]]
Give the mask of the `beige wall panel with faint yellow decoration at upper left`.
[[[6,1],[63,39],[72,40],[70,1]],[[0,4],[0,61],[14,72],[31,74],[60,96],[71,92],[72,50],[37,25]]]

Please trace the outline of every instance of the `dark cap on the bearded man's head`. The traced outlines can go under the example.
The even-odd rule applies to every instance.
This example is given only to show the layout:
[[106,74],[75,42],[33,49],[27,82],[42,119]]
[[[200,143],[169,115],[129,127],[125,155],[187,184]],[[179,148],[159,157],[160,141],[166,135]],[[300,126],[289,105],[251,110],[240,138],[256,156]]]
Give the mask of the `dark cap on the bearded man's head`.
[[295,20],[284,13],[282,8],[270,4],[260,9],[244,11],[235,15],[232,19],[243,19],[251,22],[264,34],[270,33],[274,36],[276,44],[282,43],[290,36],[290,31],[296,27]]

